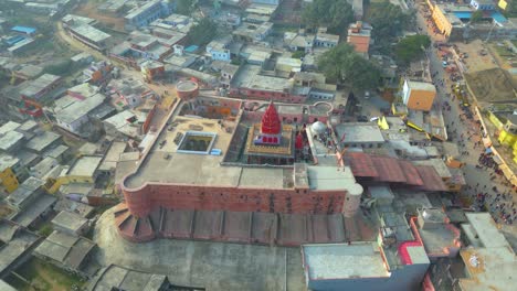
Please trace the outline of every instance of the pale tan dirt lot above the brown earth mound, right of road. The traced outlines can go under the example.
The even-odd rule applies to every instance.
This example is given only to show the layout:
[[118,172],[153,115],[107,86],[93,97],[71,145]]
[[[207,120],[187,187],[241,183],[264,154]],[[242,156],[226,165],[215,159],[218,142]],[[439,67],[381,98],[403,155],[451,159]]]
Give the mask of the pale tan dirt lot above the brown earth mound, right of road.
[[467,53],[468,57],[465,60],[467,73],[475,73],[479,71],[485,71],[489,68],[498,67],[497,62],[488,53],[486,55],[481,55],[479,51],[485,47],[481,40],[472,41],[467,44],[465,43],[454,43],[457,45],[460,53]]

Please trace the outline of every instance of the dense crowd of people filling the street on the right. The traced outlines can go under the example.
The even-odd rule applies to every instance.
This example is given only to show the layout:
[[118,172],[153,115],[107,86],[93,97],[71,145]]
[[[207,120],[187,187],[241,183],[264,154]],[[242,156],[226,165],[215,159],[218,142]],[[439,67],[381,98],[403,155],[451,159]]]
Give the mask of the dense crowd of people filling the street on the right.
[[[442,39],[442,35],[434,26],[430,19],[426,17],[428,30],[431,30],[430,35],[433,39]],[[441,40],[440,40],[441,41]],[[439,47],[436,47],[439,48]],[[430,47],[430,50],[432,50]],[[434,52],[440,54],[440,51]],[[486,149],[484,146],[483,138],[485,129],[483,128],[479,120],[476,119],[471,106],[465,104],[463,99],[456,98],[454,94],[455,85],[446,84],[451,80],[443,67],[437,65],[435,72],[431,74],[433,84],[436,86],[436,91],[442,96],[442,110],[446,112],[444,115],[447,120],[446,127],[449,129],[450,140],[455,141],[458,146],[460,154],[464,157],[469,164],[475,165],[479,179],[474,179],[473,184],[466,185],[463,194],[473,201],[473,208],[476,211],[488,211],[492,213],[494,219],[497,223],[506,223],[511,225],[517,219],[517,209],[515,207],[514,196],[517,195],[517,187],[510,184],[504,176],[499,165],[494,160],[492,150]],[[443,72],[444,74],[440,74]],[[453,108],[456,107],[456,108]],[[456,109],[456,110],[455,110]],[[457,115],[454,114],[457,112]],[[477,153],[478,159],[476,161]],[[475,170],[473,170],[475,172]],[[471,171],[469,174],[473,174]],[[488,175],[484,179],[484,175]]]

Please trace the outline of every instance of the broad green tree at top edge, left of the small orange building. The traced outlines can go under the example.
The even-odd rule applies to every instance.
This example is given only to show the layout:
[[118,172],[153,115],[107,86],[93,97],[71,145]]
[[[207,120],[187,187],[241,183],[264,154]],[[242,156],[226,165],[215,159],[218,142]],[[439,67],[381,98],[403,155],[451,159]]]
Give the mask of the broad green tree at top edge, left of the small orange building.
[[354,10],[347,0],[314,0],[302,19],[309,28],[327,26],[329,32],[339,34],[354,21]]

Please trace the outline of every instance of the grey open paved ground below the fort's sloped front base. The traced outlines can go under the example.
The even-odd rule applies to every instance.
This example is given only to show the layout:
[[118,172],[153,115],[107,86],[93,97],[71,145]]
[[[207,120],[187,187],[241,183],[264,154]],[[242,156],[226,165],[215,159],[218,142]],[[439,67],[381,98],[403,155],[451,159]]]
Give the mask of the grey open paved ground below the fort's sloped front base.
[[133,244],[116,230],[113,209],[95,228],[97,260],[168,274],[176,284],[207,290],[303,290],[299,248],[157,239]]

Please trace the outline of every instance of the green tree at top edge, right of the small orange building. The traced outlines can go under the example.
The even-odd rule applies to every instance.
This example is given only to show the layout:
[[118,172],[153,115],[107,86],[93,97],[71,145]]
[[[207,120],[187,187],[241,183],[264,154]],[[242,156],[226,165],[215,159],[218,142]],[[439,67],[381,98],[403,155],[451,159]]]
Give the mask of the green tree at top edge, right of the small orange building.
[[371,36],[381,47],[389,47],[393,39],[413,21],[399,6],[386,1],[370,6]]

